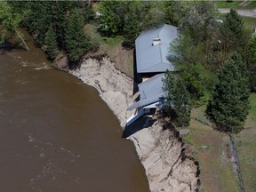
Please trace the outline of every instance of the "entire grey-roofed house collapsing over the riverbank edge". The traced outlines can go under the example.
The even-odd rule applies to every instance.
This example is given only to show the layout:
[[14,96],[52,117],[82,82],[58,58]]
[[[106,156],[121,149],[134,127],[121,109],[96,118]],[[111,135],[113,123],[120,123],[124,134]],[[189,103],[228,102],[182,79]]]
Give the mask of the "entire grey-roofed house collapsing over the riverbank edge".
[[178,36],[177,28],[162,25],[141,32],[135,41],[136,71],[140,76],[140,100],[133,103],[127,110],[134,114],[127,119],[126,125],[132,124],[140,116],[152,113],[161,108],[164,102],[163,78],[167,69],[174,71],[168,60],[169,46]]

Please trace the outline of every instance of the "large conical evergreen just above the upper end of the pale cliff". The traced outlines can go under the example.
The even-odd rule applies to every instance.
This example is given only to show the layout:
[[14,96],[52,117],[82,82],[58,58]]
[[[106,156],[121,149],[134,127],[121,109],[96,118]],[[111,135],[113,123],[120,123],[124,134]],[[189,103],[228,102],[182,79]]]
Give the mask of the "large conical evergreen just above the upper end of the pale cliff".
[[65,42],[68,60],[73,64],[91,49],[90,39],[84,33],[84,16],[81,10],[75,9],[71,12]]

